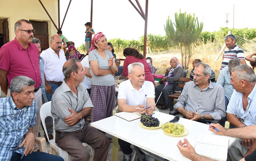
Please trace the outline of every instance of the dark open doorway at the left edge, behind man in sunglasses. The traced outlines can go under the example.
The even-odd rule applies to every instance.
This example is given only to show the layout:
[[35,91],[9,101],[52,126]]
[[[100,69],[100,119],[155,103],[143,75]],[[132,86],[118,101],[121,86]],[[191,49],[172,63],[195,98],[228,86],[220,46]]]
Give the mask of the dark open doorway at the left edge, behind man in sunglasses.
[[9,41],[8,18],[0,18],[0,48]]

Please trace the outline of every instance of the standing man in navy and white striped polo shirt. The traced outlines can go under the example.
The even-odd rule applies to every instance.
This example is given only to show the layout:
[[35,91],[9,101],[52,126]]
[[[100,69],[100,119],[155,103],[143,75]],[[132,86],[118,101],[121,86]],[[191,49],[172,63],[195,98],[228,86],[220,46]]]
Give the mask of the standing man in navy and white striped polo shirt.
[[244,57],[244,51],[242,48],[240,48],[237,44],[236,44],[236,37],[232,34],[228,35],[225,37],[225,44],[227,46],[227,48],[224,51],[223,54],[223,61],[221,63],[221,68],[220,71],[228,66],[228,62],[231,59],[238,59],[241,64],[246,64],[245,62],[245,57]]

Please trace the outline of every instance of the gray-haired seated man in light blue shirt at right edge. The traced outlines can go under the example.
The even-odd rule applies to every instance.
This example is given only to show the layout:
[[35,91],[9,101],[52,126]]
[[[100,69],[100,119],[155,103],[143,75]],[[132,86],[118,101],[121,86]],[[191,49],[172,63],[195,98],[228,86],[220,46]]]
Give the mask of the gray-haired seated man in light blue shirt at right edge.
[[[234,92],[227,107],[227,119],[235,127],[256,125],[256,81],[251,67],[244,64],[234,69],[231,74]],[[247,132],[247,131],[244,131]],[[254,149],[254,139],[238,139],[228,150],[228,161],[235,161],[247,156]]]

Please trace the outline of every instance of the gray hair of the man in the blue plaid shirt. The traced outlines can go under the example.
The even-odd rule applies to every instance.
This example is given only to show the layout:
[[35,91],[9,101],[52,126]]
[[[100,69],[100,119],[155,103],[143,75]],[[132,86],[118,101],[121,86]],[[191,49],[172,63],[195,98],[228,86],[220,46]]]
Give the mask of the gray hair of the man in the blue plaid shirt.
[[20,93],[23,87],[30,87],[35,85],[35,81],[26,76],[14,77],[10,83],[11,96],[13,92]]

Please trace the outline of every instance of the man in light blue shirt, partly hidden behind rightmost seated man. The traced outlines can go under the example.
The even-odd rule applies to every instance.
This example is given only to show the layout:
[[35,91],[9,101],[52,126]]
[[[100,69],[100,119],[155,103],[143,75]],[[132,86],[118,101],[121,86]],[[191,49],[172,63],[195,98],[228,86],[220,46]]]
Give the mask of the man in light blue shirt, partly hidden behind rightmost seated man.
[[219,73],[219,77],[217,79],[217,82],[219,85],[222,85],[224,88],[224,94],[225,94],[225,106],[227,109],[228,102],[231,98],[231,95],[234,91],[234,87],[231,82],[231,74],[234,71],[235,67],[240,66],[241,63],[238,59],[231,59],[228,62],[228,66],[224,67],[221,72]]

